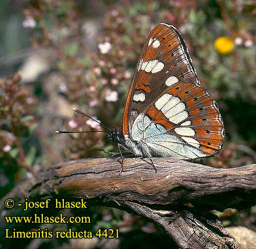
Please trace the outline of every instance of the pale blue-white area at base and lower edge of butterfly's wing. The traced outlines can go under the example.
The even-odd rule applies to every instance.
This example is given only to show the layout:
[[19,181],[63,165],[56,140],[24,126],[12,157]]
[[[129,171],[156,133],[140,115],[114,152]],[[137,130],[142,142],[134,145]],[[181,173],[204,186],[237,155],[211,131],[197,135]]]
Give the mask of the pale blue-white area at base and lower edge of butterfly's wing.
[[133,140],[139,141],[142,146],[147,146],[152,155],[173,156],[180,159],[207,156],[193,145],[186,144],[179,136],[169,134],[163,125],[151,123],[148,116],[143,114],[138,115],[135,119],[131,136]]

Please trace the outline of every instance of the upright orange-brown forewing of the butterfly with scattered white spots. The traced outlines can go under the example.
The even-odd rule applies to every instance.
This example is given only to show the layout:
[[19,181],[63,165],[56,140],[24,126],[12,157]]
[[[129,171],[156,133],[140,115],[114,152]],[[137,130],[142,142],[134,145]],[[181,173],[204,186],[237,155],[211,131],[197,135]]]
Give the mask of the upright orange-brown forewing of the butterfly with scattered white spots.
[[128,134],[138,116],[137,110],[142,111],[145,106],[152,104],[176,79],[200,85],[187,47],[177,29],[159,24],[148,35],[135,68],[125,107],[124,134]]

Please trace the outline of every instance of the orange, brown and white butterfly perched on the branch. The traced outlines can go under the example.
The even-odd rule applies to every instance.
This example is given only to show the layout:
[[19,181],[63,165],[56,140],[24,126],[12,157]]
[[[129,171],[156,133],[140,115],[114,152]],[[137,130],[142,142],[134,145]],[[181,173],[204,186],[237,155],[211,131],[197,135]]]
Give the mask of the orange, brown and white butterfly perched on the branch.
[[121,147],[149,158],[153,166],[152,156],[195,159],[220,151],[225,130],[218,105],[201,86],[174,26],[160,23],[149,33],[128,91],[123,127],[108,129],[122,163]]

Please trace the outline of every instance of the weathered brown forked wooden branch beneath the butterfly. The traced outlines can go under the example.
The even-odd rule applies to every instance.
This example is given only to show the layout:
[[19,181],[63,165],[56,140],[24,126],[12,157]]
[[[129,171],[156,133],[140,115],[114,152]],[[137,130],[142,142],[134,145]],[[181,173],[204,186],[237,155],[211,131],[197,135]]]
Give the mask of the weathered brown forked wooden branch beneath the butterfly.
[[255,205],[256,164],[217,169],[174,158],[153,161],[157,173],[147,159],[127,158],[121,175],[116,158],[62,162],[42,172],[23,196],[17,191],[11,195],[84,198],[124,209],[157,223],[181,249],[239,248],[217,216],[207,211]]

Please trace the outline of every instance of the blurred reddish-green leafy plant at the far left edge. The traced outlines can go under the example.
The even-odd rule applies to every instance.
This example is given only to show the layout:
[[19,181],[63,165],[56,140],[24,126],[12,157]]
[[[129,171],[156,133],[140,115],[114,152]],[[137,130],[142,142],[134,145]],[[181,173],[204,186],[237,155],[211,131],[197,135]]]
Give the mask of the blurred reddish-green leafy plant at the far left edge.
[[23,168],[32,171],[36,149],[30,147],[25,154],[26,142],[37,127],[33,116],[36,98],[32,89],[20,83],[20,74],[0,79],[0,176],[9,181],[2,184],[1,195],[8,192],[15,184],[14,177]]

